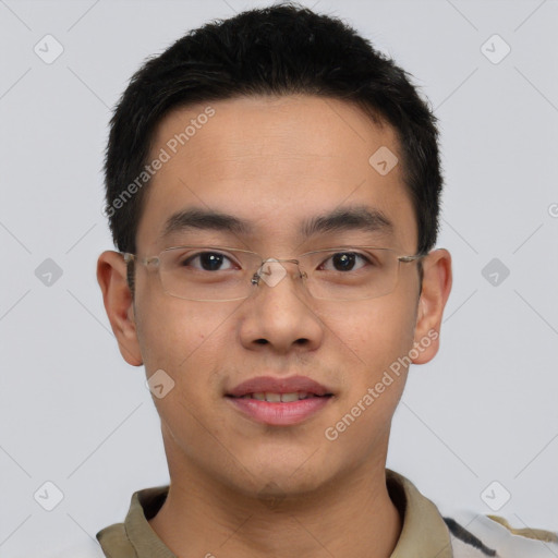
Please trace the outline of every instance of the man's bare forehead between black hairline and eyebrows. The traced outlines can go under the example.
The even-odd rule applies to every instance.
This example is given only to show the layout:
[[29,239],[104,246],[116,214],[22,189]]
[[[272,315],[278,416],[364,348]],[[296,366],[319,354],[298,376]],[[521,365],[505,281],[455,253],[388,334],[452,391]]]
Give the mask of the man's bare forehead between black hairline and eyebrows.
[[353,206],[381,214],[390,240],[414,250],[395,131],[352,104],[243,97],[180,108],[156,130],[156,159],[163,162],[144,197],[138,248],[165,247],[169,219],[184,210],[232,215],[250,225],[250,242],[287,245],[313,218]]

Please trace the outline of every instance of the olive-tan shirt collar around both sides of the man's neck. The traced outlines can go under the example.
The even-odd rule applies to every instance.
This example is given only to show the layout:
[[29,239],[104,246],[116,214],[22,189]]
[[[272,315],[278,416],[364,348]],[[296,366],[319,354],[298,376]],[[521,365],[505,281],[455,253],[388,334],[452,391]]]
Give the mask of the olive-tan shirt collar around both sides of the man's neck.
[[[451,558],[449,531],[436,506],[404,476],[386,470],[389,496],[403,518],[399,541],[390,558]],[[157,536],[148,520],[157,514],[169,486],[137,490],[124,523],[97,533],[104,553],[119,558],[177,558]]]

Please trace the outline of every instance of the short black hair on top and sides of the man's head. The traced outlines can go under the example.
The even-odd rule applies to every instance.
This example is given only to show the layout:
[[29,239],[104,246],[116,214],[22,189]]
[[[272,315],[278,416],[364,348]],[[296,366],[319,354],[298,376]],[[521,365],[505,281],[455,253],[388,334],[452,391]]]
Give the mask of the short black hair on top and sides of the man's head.
[[410,75],[341,20],[292,2],[189,32],[133,75],[110,121],[105,214],[116,246],[136,251],[147,158],[169,111],[241,96],[307,94],[352,102],[376,124],[393,128],[417,221],[416,252],[427,253],[439,227],[438,130]]

